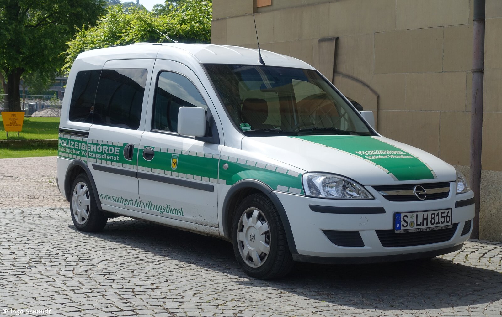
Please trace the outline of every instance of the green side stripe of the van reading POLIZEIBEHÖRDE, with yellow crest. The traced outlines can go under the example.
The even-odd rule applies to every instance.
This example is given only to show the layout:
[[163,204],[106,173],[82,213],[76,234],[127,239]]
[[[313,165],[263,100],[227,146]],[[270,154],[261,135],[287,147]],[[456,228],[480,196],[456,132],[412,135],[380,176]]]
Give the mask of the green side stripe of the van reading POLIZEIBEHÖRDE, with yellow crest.
[[[123,156],[125,146],[126,143],[61,134],[58,155],[133,170],[136,170],[136,157],[139,157],[139,171],[230,186],[240,180],[254,179],[267,184],[275,191],[303,195],[302,175],[298,172],[243,158],[221,156],[223,158],[220,160],[218,154],[169,148],[155,150],[154,159],[146,161],[143,157],[144,150],[135,147],[133,161],[127,161]],[[176,159],[175,165],[173,158]],[[222,168],[223,164],[228,164],[227,170]]]

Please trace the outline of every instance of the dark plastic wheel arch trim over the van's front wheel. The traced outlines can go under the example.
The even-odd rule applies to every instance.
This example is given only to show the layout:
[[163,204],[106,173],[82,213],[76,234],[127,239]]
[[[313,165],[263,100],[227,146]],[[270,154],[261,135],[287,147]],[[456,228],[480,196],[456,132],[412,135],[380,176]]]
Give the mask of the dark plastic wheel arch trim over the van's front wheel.
[[258,180],[241,180],[232,185],[230,190],[228,190],[225,199],[223,201],[222,207],[222,228],[223,235],[225,238],[231,241],[231,225],[233,216],[232,211],[237,208],[238,203],[242,200],[242,198],[249,196],[254,193],[263,193],[267,195],[267,197],[272,201],[274,206],[277,208],[279,212],[279,216],[281,217],[282,224],[284,226],[284,231],[286,233],[286,237],[288,239],[288,247],[292,254],[298,253],[296,250],[295,239],[293,237],[293,231],[291,230],[291,225],[289,223],[288,215],[286,214],[286,210],[274,193],[272,188],[270,188],[267,184],[260,182]]

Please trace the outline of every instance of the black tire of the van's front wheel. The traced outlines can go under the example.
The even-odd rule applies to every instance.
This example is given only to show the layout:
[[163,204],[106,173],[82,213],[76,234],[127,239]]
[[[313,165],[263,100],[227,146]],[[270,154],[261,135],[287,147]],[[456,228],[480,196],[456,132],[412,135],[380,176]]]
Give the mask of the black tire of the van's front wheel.
[[[258,211],[257,226],[261,228],[265,221],[268,225],[268,235],[267,231],[262,234],[260,229],[256,229],[257,226],[251,225],[247,227],[247,230],[245,229],[246,227],[241,221],[243,215],[246,214],[247,223],[252,224],[255,210]],[[255,235],[253,236],[253,234]],[[293,257],[288,247],[281,217],[272,201],[264,194],[249,195],[237,207],[232,219],[232,243],[237,262],[249,276],[259,279],[280,278],[293,268]],[[265,246],[268,243],[268,253],[263,252],[261,249],[263,247],[258,246],[257,243],[262,243]],[[245,251],[246,246],[249,252]],[[255,261],[256,257],[253,258],[250,255],[252,253],[260,259],[258,266]],[[244,259],[245,254],[247,254],[246,260]]]

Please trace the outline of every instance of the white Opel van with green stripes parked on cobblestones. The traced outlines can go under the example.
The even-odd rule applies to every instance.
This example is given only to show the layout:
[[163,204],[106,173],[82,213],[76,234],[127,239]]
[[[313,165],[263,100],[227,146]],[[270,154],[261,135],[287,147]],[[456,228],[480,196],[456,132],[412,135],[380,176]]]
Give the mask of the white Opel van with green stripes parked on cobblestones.
[[430,258],[469,238],[474,195],[423,150],[374,130],[312,66],[207,44],[80,54],[59,190],[75,227],[127,216],[227,239],[242,269]]

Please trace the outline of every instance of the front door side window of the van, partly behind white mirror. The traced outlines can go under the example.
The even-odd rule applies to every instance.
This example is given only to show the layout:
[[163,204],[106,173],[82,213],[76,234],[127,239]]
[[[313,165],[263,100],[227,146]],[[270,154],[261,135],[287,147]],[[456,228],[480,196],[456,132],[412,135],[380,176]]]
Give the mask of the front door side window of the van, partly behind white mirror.
[[180,107],[202,107],[207,110],[204,99],[188,78],[172,72],[159,73],[152,129],[177,132]]

